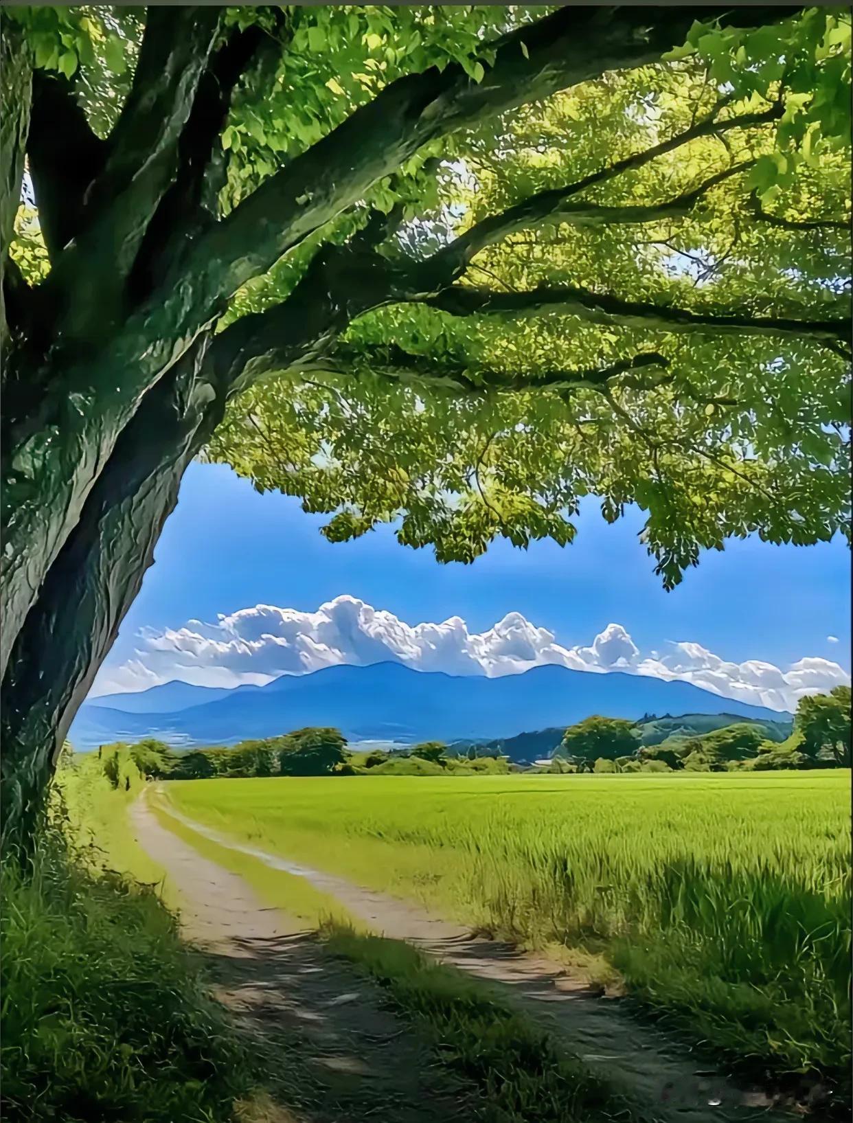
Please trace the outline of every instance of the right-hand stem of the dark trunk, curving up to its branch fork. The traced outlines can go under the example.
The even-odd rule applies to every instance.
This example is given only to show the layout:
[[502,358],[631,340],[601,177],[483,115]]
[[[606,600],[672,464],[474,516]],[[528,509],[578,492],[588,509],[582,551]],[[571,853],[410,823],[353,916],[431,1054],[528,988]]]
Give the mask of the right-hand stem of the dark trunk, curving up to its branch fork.
[[359,284],[354,255],[318,254],[281,308],[204,336],[146,394],[47,572],[0,690],[3,839],[26,850],[79,706],[132,604],[181,478],[227,400],[272,371],[299,371],[333,348],[350,317],[386,299]]

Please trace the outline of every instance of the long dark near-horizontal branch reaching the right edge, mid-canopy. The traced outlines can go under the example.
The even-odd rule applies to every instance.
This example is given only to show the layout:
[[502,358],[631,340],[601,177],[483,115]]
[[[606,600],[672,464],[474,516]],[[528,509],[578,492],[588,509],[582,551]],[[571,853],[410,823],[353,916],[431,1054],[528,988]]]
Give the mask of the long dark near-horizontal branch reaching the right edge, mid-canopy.
[[[415,299],[415,298],[409,298]],[[622,300],[612,293],[594,293],[569,285],[529,292],[493,292],[453,285],[424,301],[451,316],[539,316],[561,312],[589,323],[607,323],[658,331],[710,331],[718,335],[792,335],[810,339],[846,339],[847,320],[797,320],[760,317],[749,312],[707,313],[682,308]]]

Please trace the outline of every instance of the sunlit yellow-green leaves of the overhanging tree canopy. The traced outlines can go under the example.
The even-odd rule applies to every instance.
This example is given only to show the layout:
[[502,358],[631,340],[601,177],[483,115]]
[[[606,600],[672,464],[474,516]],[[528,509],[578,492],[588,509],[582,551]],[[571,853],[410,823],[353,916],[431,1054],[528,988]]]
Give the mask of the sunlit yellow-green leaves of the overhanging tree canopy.
[[[220,216],[306,154],[320,182],[334,130],[398,77],[459,65],[466,97],[488,88],[488,44],[548,10],[224,9],[218,46],[235,27],[259,26],[281,49],[231,99]],[[73,79],[104,136],[132,76],[139,10],[4,12],[26,28],[37,67]],[[588,496],[608,521],[632,503],[646,512],[642,540],[668,588],[733,536],[805,545],[849,533],[845,348],[751,321],[847,317],[850,16],[791,9],[742,30],[726,15],[697,22],[654,65],[437,130],[228,294],[220,330],[286,303],[320,254],[331,275],[377,214],[393,220],[373,266],[393,264],[398,280],[434,266],[366,312],[341,300],[310,372],[283,359],[278,377],[231,395],[205,455],[328,514],[332,541],[389,522],[402,545],[432,546],[442,562],[469,563],[498,536],[569,545]],[[697,122],[744,117],[640,158]],[[543,218],[526,206],[569,188]],[[448,245],[516,206],[528,218],[439,276]],[[30,210],[11,253],[34,281],[47,271],[43,249]],[[354,290],[369,289],[373,266],[359,265]],[[324,285],[306,307],[324,305]],[[624,307],[548,304],[542,290],[554,289]],[[526,305],[498,308],[525,293]],[[708,323],[669,322],[673,310]],[[655,356],[645,371],[630,366]]]

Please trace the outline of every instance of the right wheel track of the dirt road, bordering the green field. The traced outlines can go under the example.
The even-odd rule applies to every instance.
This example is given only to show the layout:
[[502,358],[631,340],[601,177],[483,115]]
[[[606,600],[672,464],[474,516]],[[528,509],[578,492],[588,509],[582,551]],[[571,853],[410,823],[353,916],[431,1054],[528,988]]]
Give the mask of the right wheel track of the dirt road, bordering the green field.
[[[660,1119],[680,1123],[790,1120],[787,1114],[768,1111],[771,1104],[763,1093],[743,1088],[714,1072],[713,1066],[679,1048],[671,1038],[632,1019],[620,999],[599,997],[587,985],[568,978],[549,960],[519,952],[499,941],[474,938],[469,931],[430,916],[416,905],[244,844],[171,806],[163,810],[211,841],[250,855],[273,869],[305,878],[318,889],[337,897],[374,931],[414,943],[444,962],[499,986],[540,1023],[553,1030],[568,1050],[604,1076],[614,1090],[646,1106]],[[148,819],[169,837],[153,815]],[[149,848],[147,827],[140,832],[140,841]],[[212,866],[198,855],[193,858],[190,847],[185,849],[190,852],[187,861],[191,865]],[[163,857],[158,860],[165,864]],[[230,882],[241,879],[224,870],[220,870],[220,875],[221,892],[228,898]],[[235,892],[245,894],[246,888]]]

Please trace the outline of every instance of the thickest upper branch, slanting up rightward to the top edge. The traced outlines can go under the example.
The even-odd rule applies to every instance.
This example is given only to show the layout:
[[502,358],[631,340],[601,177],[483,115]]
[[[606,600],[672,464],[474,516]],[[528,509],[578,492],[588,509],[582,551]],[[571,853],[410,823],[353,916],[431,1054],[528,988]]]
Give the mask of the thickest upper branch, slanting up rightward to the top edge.
[[[228,296],[266,272],[429,140],[605,71],[657,62],[684,42],[703,11],[705,18],[712,16],[701,8],[566,6],[499,40],[494,65],[479,84],[458,64],[397,79],[270,176],[211,231],[199,247],[210,296]],[[734,9],[726,12],[726,21],[752,26],[791,13],[780,8]],[[713,17],[718,16],[719,9],[713,9]]]

